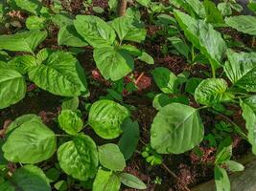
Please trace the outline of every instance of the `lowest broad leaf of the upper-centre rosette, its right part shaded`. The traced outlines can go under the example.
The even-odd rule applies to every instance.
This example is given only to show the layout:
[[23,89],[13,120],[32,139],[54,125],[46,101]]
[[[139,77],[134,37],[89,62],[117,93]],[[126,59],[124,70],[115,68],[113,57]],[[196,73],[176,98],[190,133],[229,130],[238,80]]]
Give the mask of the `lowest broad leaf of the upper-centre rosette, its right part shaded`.
[[93,52],[97,68],[105,79],[117,81],[134,68],[133,57],[126,51],[114,47],[97,48]]

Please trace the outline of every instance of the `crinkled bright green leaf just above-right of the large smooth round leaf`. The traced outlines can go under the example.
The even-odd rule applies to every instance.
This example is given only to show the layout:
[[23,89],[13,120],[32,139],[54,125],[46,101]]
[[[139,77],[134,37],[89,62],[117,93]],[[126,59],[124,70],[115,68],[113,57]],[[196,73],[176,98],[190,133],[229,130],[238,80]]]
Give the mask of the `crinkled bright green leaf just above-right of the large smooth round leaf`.
[[215,105],[223,101],[230,101],[234,96],[226,92],[227,83],[221,78],[208,78],[202,80],[196,91],[195,99],[202,105]]

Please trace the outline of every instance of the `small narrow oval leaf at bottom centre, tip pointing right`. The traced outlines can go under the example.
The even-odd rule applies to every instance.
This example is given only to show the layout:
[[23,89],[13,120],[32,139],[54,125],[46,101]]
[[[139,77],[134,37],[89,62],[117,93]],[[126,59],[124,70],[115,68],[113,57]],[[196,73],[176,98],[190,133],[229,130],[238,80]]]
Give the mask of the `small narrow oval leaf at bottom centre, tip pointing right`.
[[130,175],[128,173],[119,173],[118,177],[120,178],[122,183],[130,188],[135,188],[139,190],[147,189],[147,185],[142,180],[139,180],[133,175]]

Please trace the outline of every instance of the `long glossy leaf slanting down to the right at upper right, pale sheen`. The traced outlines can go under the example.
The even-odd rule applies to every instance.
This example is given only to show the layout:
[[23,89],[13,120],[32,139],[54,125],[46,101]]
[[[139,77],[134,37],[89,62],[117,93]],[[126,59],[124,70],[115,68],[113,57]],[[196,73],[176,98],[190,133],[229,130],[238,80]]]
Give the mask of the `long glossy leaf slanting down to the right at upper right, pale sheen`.
[[221,33],[215,31],[211,24],[181,11],[175,10],[174,13],[179,26],[192,44],[210,60],[215,69],[221,66],[221,59],[226,50]]

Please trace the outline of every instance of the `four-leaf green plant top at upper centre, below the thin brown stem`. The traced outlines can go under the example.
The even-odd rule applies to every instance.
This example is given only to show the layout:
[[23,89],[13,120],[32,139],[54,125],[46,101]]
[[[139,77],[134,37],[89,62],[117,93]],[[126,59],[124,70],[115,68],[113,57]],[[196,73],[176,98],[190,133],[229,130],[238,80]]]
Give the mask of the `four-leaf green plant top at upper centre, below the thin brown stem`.
[[106,23],[92,15],[78,15],[74,20],[76,31],[93,48],[97,68],[105,79],[119,80],[134,68],[134,57],[152,64],[149,54],[133,46],[122,45],[124,41],[141,42],[146,30],[131,15],[125,15]]

